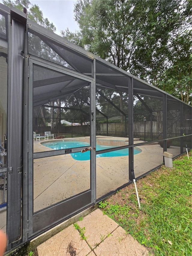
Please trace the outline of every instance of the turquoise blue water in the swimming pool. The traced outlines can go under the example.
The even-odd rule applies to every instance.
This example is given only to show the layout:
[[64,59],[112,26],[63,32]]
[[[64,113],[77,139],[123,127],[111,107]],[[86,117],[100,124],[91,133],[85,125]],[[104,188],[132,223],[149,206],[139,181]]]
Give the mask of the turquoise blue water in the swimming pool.
[[[47,143],[42,143],[42,145],[51,148],[51,149],[72,149],[72,148],[78,148],[78,147],[88,147],[89,143],[86,142],[77,142],[77,141],[58,141],[58,142],[47,142]],[[109,149],[112,148],[112,146],[101,146],[101,145],[96,145],[96,150],[102,150],[102,149]],[[134,155],[139,154],[141,151],[134,149]],[[85,160],[90,160],[90,151],[87,152],[75,152],[75,153],[70,153],[70,155],[78,161],[85,161]],[[115,156],[126,156],[129,155],[129,150],[128,149],[119,149],[116,151],[111,151],[107,153],[101,153],[97,154],[96,157],[115,157]]]

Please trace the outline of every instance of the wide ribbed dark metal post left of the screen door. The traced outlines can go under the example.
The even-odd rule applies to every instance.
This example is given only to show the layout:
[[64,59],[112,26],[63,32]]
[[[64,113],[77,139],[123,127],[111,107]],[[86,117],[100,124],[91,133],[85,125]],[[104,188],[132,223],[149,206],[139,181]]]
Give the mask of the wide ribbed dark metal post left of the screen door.
[[[26,14],[11,7],[11,38],[8,52],[7,125],[7,236],[8,244],[21,238],[23,70]],[[9,249],[9,246],[7,247]]]

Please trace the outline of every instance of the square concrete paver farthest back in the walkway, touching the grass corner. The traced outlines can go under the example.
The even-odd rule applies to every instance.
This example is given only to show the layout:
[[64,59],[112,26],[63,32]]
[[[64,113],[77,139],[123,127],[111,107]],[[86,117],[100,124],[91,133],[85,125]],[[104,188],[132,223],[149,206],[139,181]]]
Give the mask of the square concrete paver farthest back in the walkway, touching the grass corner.
[[81,228],[85,227],[85,236],[88,236],[86,241],[91,248],[95,248],[119,226],[100,209],[91,212],[77,224]]

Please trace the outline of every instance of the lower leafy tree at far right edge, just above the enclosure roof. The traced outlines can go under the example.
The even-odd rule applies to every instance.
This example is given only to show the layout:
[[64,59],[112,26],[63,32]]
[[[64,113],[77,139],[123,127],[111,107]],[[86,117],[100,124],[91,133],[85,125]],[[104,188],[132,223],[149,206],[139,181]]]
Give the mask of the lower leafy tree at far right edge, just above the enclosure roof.
[[191,45],[191,31],[187,30],[184,34],[176,35],[170,49],[170,62],[172,65],[166,69],[164,74],[165,78],[161,82],[161,89],[164,90],[166,85],[169,84],[173,96],[178,97],[188,104],[192,103]]

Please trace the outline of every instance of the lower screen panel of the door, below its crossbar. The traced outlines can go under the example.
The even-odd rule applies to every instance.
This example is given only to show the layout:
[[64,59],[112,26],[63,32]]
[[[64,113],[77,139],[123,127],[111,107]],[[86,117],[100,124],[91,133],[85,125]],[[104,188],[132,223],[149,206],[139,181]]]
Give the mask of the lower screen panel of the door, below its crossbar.
[[34,159],[33,212],[90,189],[90,160],[74,158],[66,154]]

